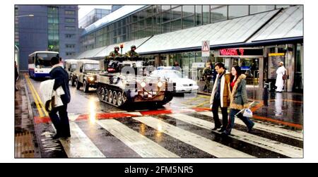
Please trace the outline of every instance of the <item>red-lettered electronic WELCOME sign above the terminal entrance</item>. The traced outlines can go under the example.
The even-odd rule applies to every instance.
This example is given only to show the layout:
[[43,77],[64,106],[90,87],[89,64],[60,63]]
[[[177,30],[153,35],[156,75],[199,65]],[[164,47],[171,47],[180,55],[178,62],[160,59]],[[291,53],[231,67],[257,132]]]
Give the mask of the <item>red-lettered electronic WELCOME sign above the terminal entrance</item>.
[[263,56],[263,49],[220,49],[220,56]]

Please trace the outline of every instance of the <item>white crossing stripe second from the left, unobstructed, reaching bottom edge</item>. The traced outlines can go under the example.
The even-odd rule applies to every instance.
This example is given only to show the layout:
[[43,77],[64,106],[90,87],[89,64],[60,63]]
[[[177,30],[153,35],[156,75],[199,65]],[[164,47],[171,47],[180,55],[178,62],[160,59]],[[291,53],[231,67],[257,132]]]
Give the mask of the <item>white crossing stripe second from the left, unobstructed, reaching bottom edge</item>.
[[119,121],[114,119],[105,119],[98,121],[97,123],[116,138],[124,142],[125,145],[133,149],[141,157],[179,157],[152,140],[149,140],[144,135],[131,130]]

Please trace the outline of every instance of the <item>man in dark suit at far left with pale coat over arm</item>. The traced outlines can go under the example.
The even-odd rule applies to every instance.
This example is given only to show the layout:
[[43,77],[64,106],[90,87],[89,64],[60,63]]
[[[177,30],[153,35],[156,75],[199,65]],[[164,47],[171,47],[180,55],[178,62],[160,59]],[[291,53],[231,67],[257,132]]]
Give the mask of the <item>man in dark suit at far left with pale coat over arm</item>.
[[[65,94],[61,95],[61,101],[63,106],[52,108],[49,112],[49,117],[57,129],[57,134],[53,139],[57,138],[69,138],[71,137],[69,128],[69,117],[67,116],[67,104],[71,101],[71,94],[69,92],[69,74],[59,64],[59,58],[53,57],[51,59],[52,71],[49,72],[50,79],[54,79],[53,90],[57,90],[58,87],[62,87]],[[57,116],[59,112],[59,116]]]

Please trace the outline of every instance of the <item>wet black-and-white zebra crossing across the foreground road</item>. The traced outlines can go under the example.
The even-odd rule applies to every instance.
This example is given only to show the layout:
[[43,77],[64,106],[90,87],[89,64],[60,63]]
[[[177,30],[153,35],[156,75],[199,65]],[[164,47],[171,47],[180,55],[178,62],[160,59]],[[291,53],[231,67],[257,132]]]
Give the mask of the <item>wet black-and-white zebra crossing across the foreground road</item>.
[[[137,116],[138,115],[138,116]],[[71,121],[60,140],[69,158],[302,158],[302,133],[255,123],[246,133],[235,120],[222,138],[211,111]],[[209,119],[211,118],[211,119]]]

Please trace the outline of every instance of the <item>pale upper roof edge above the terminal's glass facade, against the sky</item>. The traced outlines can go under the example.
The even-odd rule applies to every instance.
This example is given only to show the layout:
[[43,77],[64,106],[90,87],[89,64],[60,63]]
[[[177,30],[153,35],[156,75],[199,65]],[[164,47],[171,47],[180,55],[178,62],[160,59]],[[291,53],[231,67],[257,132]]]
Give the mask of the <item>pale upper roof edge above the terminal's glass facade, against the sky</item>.
[[119,18],[123,18],[128,16],[130,13],[133,13],[134,11],[139,10],[140,8],[143,8],[145,5],[139,5],[139,6],[123,6],[122,8],[117,9],[117,11],[114,11],[107,16],[101,18],[100,20],[97,20],[95,23],[89,25],[85,28],[83,35],[87,35],[91,32],[95,32],[99,28],[102,28],[103,26],[107,25],[108,23],[113,22],[114,20],[117,20]]

